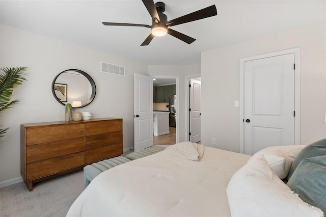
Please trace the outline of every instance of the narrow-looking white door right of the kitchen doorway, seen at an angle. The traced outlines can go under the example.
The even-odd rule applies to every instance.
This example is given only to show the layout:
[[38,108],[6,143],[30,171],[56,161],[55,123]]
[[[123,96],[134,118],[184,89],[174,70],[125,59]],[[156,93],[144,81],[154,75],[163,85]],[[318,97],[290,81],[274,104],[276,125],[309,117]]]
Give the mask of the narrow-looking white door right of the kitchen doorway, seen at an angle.
[[191,79],[190,86],[190,141],[197,143],[200,141],[200,85],[199,80]]

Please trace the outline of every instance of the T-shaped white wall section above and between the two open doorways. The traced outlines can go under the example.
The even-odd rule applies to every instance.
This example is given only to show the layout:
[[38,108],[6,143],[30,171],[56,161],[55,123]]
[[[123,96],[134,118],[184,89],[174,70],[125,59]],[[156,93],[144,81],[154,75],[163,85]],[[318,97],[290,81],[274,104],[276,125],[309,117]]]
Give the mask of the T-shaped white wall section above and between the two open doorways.
[[185,115],[186,109],[188,106],[185,106],[185,86],[186,79],[185,77],[188,75],[198,75],[200,74],[200,63],[186,65],[186,66],[148,66],[148,74],[150,76],[178,76],[179,77],[179,142],[186,141],[185,133]]

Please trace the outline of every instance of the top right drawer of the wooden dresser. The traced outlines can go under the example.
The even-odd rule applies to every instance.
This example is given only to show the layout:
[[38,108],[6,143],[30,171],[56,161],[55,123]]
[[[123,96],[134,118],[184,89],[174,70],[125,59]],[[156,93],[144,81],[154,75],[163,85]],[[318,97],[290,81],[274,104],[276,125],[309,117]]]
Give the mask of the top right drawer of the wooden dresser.
[[121,131],[122,119],[94,121],[85,123],[85,134],[96,135],[107,132]]

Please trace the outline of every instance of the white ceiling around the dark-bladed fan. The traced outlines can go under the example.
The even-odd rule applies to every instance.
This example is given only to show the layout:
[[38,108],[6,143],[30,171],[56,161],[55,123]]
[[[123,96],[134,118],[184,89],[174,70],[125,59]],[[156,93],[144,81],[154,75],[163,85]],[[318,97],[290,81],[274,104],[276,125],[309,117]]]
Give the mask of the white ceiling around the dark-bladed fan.
[[0,2],[3,24],[146,65],[199,63],[202,51],[326,19],[324,0],[163,0],[168,20],[214,4],[218,15],[172,26],[171,29],[197,39],[190,45],[167,35],[155,37],[148,46],[140,46],[150,29],[102,24],[102,21],[151,24],[151,17],[140,0]]

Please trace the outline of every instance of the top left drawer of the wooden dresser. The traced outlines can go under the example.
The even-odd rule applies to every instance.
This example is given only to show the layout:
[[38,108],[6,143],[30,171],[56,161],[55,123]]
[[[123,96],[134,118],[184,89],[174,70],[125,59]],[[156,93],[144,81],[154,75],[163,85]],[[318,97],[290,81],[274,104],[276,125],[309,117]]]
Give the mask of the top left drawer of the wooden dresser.
[[26,129],[26,145],[84,137],[84,123]]

